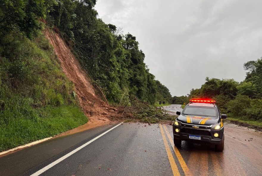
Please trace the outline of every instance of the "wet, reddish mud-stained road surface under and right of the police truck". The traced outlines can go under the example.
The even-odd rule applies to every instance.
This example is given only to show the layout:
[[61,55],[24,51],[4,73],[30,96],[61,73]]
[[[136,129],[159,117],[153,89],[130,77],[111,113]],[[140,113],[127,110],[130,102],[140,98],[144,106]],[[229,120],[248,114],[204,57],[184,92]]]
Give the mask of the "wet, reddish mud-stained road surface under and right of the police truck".
[[[167,125],[172,134],[172,126]],[[180,151],[193,175],[262,175],[261,132],[225,124],[223,152],[183,141]],[[252,138],[252,141],[250,140]],[[248,141],[249,140],[249,141]]]

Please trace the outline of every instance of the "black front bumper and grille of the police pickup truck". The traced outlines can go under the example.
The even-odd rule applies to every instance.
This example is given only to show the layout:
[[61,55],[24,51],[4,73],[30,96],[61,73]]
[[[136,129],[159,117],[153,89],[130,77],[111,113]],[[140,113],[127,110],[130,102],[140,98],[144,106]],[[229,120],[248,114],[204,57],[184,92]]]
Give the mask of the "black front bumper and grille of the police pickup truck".
[[[175,132],[175,128],[179,129],[179,132]],[[223,135],[224,135],[224,127],[220,130],[207,130],[210,132],[210,135],[201,135],[201,134],[194,134],[194,133],[184,133],[182,130],[183,127],[178,127],[173,124],[173,134],[174,134],[174,139],[177,140],[182,140],[182,141],[188,141],[192,143],[199,143],[199,144],[221,144]],[[194,130],[201,130],[201,129],[194,129]],[[219,137],[215,138],[214,133],[219,133]],[[196,140],[196,139],[189,139],[189,135],[195,135],[195,136],[201,136],[201,140]]]

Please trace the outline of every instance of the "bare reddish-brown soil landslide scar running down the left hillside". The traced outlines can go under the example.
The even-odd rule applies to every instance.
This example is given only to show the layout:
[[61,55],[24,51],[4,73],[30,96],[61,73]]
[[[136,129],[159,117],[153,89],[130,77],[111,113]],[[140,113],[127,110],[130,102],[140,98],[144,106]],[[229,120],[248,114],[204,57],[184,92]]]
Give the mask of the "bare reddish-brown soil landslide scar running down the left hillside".
[[[88,124],[105,124],[109,123],[112,117],[117,114],[117,109],[110,107],[98,95],[91,79],[82,69],[79,61],[71,52],[69,46],[62,39],[60,34],[54,30],[46,29],[43,31],[45,37],[53,45],[55,54],[59,59],[63,72],[70,81],[74,83],[74,89],[79,99],[82,111],[89,118]],[[83,128],[83,127],[80,127]]]

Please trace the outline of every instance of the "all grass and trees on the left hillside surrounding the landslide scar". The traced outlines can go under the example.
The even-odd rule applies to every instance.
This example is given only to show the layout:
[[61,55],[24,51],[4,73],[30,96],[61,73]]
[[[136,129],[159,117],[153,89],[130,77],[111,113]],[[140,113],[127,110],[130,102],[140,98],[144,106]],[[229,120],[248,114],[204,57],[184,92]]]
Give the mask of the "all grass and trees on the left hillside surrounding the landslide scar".
[[87,122],[72,83],[41,33],[46,26],[60,31],[111,103],[171,101],[169,90],[149,73],[136,37],[105,24],[95,4],[96,0],[1,1],[0,151]]

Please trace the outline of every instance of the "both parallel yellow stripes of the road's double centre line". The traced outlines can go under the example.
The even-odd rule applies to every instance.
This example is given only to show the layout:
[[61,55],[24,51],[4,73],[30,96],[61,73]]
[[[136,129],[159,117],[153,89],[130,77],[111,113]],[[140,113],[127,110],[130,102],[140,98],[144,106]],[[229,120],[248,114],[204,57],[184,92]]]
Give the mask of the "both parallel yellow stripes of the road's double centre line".
[[188,169],[187,165],[185,164],[185,161],[184,161],[183,157],[181,156],[180,152],[178,151],[177,147],[174,145],[174,142],[173,142],[173,140],[172,140],[172,138],[171,138],[171,136],[170,136],[170,134],[169,134],[169,132],[168,132],[168,130],[166,128],[166,125],[164,125],[165,131],[166,131],[166,135],[165,135],[165,132],[163,130],[162,124],[159,124],[159,126],[160,126],[161,134],[162,134],[163,141],[164,141],[164,144],[165,144],[165,147],[166,147],[166,153],[167,153],[170,165],[171,165],[171,169],[172,169],[173,175],[174,176],[180,176],[180,173],[178,171],[178,168],[177,168],[176,162],[174,160],[174,157],[172,155],[172,152],[171,152],[171,149],[169,147],[169,144],[168,144],[168,142],[166,140],[166,135],[167,135],[167,137],[169,139],[169,142],[172,145],[172,148],[173,148],[173,150],[174,150],[174,152],[175,152],[175,154],[177,156],[177,159],[178,159],[178,161],[179,161],[179,163],[180,163],[180,165],[181,165],[185,175],[186,176],[191,176],[192,174],[191,174],[190,170]]

